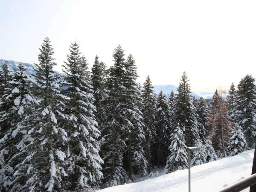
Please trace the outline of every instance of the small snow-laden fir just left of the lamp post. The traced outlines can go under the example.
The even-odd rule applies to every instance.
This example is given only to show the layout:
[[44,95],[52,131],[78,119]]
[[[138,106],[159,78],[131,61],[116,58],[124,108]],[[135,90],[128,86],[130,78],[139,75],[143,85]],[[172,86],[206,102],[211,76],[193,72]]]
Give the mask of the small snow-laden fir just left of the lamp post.
[[185,145],[184,134],[178,124],[173,125],[173,132],[170,136],[169,156],[166,161],[166,173],[175,172],[178,169],[188,167],[187,146]]

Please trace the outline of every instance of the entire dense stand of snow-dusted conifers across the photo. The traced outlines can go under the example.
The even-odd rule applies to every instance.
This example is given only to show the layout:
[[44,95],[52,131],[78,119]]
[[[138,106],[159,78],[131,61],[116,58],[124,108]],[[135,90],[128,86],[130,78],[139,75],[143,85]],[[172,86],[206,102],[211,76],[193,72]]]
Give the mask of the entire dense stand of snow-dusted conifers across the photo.
[[90,191],[186,169],[251,149],[256,141],[256,85],[247,75],[210,102],[195,99],[184,72],[175,95],[143,86],[132,55],[113,52],[107,69],[98,56],[91,71],[74,42],[55,73],[45,38],[35,74],[0,71],[0,190]]

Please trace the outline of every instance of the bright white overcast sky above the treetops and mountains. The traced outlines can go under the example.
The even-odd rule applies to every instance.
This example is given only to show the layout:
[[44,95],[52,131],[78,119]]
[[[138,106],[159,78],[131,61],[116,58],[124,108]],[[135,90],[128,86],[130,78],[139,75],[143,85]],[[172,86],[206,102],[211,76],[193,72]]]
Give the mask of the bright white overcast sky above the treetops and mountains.
[[36,63],[48,35],[61,71],[70,42],[108,66],[121,44],[137,61],[138,81],[192,91],[229,89],[256,78],[255,0],[0,0],[0,59]]

